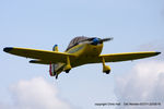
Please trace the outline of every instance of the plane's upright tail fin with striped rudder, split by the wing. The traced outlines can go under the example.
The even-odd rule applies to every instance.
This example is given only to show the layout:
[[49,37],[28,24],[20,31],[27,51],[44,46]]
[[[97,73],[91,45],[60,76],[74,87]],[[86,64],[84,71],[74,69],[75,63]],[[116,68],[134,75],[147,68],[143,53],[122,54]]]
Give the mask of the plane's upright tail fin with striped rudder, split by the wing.
[[[52,47],[52,51],[58,51],[58,45],[55,45]],[[50,63],[49,64],[49,74],[50,74],[50,76],[55,76],[56,75],[56,64],[55,63]]]

